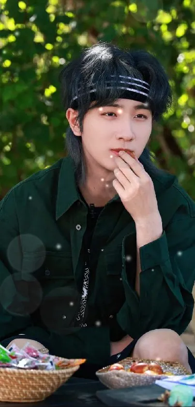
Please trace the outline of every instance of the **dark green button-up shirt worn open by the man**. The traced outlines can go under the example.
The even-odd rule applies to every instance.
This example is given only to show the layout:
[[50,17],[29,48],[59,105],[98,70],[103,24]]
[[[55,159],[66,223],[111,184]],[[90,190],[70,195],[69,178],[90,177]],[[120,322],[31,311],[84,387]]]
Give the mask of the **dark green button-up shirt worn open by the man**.
[[133,338],[155,328],[185,330],[194,307],[195,202],[175,176],[149,175],[163,234],[140,248],[140,297],[135,222],[115,195],[98,216],[91,239],[84,328],[76,326],[76,316],[88,208],[71,158],[10,190],[0,202],[0,341],[25,334],[50,353],[106,364],[112,317]]

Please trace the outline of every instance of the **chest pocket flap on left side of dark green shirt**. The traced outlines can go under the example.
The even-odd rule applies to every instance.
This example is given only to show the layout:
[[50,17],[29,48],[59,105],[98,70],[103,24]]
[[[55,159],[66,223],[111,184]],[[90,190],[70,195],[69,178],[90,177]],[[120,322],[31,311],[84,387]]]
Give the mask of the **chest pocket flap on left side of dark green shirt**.
[[38,280],[74,279],[71,252],[37,252],[24,253],[22,272],[31,273]]

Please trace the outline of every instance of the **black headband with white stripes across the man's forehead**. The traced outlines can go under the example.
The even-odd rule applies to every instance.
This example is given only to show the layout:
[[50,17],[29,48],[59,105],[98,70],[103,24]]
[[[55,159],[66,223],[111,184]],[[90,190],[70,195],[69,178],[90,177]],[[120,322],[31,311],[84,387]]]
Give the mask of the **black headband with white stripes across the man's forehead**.
[[[115,75],[111,75],[110,77],[114,78]],[[117,83],[118,89],[124,90],[127,93],[129,93],[129,92],[135,93],[135,94],[137,94],[137,98],[139,98],[139,95],[142,98],[144,96],[147,98],[150,98],[150,96],[149,96],[150,84],[148,82],[142,81],[141,79],[132,78],[130,76],[120,75],[119,77],[122,78],[123,80],[118,81],[118,83]],[[106,89],[113,89],[115,87],[114,86],[115,82],[116,82],[116,80],[114,80],[114,79],[110,79],[110,80],[106,81]],[[94,84],[90,85],[90,90],[88,92],[95,93],[96,91],[97,91],[97,88],[95,87],[95,85]],[[71,101],[71,105],[76,99],[78,99],[79,96],[82,96],[84,94],[86,94],[86,93],[82,93],[78,96],[75,96]],[[127,94],[126,94],[126,98],[127,97],[130,98],[130,95],[127,96]]]

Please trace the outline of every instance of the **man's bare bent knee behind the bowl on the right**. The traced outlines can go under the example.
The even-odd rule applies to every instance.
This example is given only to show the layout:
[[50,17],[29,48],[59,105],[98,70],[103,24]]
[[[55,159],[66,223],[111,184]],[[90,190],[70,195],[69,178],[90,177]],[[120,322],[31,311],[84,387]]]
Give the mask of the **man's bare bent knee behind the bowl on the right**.
[[154,329],[145,333],[137,341],[133,357],[180,362],[186,369],[190,369],[187,347],[171,329]]

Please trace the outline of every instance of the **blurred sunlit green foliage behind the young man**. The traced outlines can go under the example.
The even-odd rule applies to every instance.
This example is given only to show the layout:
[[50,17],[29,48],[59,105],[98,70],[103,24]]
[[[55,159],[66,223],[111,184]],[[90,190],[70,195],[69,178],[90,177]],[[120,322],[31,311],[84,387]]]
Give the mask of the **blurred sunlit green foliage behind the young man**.
[[0,198],[65,155],[58,75],[100,40],[164,65],[175,101],[149,147],[195,199],[195,0],[0,0]]

